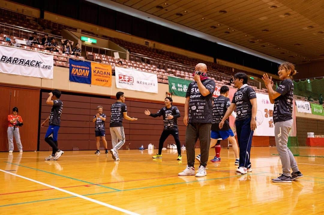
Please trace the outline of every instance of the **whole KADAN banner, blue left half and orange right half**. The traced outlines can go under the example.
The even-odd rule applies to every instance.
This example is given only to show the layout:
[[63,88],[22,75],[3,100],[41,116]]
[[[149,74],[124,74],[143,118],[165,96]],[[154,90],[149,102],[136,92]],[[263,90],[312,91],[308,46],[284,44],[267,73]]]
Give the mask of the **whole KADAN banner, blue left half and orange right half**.
[[111,66],[69,59],[69,80],[78,83],[111,87]]

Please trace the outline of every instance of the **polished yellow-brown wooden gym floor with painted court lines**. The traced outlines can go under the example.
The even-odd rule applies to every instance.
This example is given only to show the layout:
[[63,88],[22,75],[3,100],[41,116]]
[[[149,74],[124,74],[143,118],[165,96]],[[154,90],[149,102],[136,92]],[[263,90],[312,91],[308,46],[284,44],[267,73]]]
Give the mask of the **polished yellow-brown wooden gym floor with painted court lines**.
[[[299,152],[324,155],[324,148]],[[182,161],[174,149],[160,160],[152,150],[121,150],[117,162],[101,153],[66,151],[44,161],[49,152],[1,152],[1,214],[324,214],[322,157],[296,157],[304,178],[282,184],[271,182],[281,173],[273,147],[252,148],[246,175],[235,173],[233,151],[222,148],[222,161],[208,162],[202,178],[177,176],[185,151]]]

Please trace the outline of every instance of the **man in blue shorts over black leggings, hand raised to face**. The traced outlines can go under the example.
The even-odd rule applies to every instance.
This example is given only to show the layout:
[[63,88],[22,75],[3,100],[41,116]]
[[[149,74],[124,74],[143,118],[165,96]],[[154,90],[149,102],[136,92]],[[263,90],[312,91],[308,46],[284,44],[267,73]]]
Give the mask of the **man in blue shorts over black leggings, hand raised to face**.
[[45,141],[52,147],[52,155],[45,158],[45,160],[57,160],[61,157],[64,151],[57,148],[57,134],[61,125],[61,114],[63,109],[63,102],[60,100],[61,91],[52,90],[48,94],[46,104],[52,105],[51,113],[48,118],[42,122],[41,127],[49,121],[49,127],[45,134]]

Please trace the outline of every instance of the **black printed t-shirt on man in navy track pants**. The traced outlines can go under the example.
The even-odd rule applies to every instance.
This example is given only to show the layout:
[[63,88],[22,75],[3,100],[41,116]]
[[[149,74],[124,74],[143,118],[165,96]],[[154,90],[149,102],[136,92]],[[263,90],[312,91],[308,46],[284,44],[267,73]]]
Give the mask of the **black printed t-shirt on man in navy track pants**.
[[255,91],[248,85],[243,85],[235,92],[232,103],[236,104],[236,120],[252,117],[252,104],[250,99],[256,97],[257,95],[255,94]]

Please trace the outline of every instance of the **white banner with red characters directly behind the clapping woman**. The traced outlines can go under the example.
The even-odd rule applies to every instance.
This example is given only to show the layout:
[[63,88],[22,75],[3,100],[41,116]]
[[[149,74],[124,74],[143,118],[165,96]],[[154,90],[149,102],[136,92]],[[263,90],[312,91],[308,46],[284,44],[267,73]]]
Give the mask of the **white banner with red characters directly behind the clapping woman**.
[[257,129],[254,136],[274,136],[273,104],[268,94],[257,93]]

